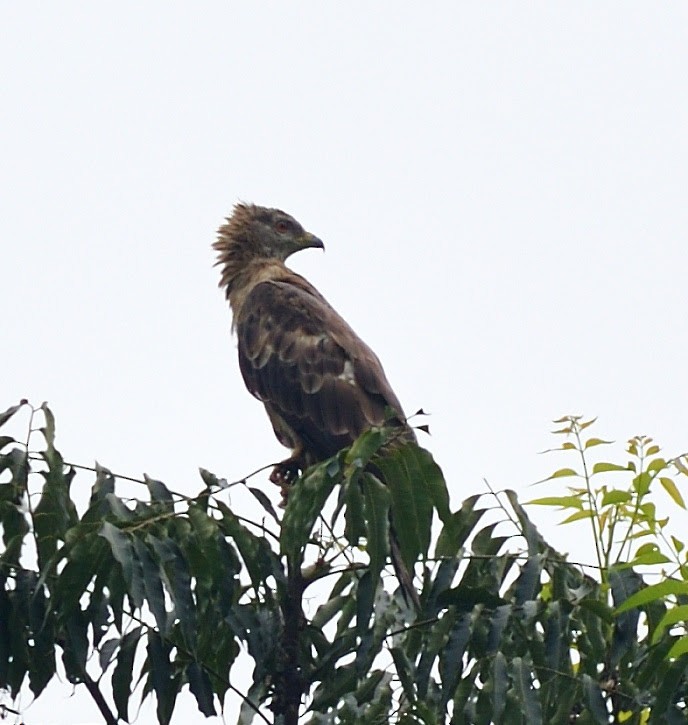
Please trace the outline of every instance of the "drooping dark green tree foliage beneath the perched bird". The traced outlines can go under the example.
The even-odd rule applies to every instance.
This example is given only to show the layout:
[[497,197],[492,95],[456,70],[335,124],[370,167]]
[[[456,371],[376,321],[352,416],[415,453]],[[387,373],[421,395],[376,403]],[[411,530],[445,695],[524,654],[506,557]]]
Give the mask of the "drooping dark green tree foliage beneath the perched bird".
[[[167,723],[186,687],[204,715],[240,699],[240,723],[685,721],[688,657],[669,657],[685,590],[645,588],[642,551],[620,558],[641,531],[664,541],[652,483],[678,492],[662,483],[675,463],[650,469],[646,439],[634,472],[649,472],[647,486],[610,498],[621,489],[594,489],[593,469],[556,504],[590,512],[606,536],[598,581],[544,541],[511,491],[452,511],[430,454],[388,430],[305,472],[281,518],[237,482],[269,524],[233,511],[223,501],[232,484],[207,471],[197,496],[145,478],[146,500],[132,501],[96,466],[80,512],[77,467],[54,446],[49,408],[23,401],[0,425],[24,406],[26,441],[0,437],[0,687],[10,697],[25,683],[39,696],[59,657],[110,724],[149,694]],[[45,445],[33,452],[37,416]],[[614,532],[631,524],[619,543]],[[682,544],[664,543],[680,559]],[[388,573],[394,546],[416,575],[419,610]],[[664,581],[685,585],[685,560]],[[319,602],[312,614],[306,592]],[[246,692],[241,652],[254,666]]]

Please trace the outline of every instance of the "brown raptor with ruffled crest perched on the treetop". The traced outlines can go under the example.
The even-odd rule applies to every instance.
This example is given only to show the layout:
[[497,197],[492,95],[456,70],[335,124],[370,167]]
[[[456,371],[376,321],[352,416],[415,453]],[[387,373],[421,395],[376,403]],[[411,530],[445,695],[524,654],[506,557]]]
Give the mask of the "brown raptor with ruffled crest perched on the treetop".
[[[271,480],[283,486],[351,445],[372,426],[415,441],[375,353],[286,259],[322,241],[289,214],[237,204],[213,247],[232,308],[239,365],[291,456]],[[392,417],[390,418],[390,412]]]

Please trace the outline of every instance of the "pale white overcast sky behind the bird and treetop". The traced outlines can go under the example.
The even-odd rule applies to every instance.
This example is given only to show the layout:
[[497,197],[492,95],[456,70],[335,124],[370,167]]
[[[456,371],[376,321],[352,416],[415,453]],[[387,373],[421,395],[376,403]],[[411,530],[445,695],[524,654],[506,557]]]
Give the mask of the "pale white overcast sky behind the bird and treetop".
[[[431,413],[455,506],[543,495],[567,413],[687,450],[687,28],[680,2],[2,2],[0,408],[47,400],[67,460],[187,493],[284,457],[212,266],[244,200],[325,241],[290,264]],[[24,717],[99,721],[66,685]]]

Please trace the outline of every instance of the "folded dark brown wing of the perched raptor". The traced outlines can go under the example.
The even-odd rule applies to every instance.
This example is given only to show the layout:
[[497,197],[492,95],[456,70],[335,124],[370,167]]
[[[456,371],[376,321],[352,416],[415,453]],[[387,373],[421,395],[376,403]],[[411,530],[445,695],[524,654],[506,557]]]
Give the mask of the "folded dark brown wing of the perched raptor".
[[321,460],[385,423],[386,408],[405,425],[375,353],[302,277],[257,284],[237,335],[246,387],[284,445]]

